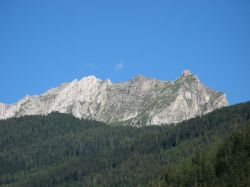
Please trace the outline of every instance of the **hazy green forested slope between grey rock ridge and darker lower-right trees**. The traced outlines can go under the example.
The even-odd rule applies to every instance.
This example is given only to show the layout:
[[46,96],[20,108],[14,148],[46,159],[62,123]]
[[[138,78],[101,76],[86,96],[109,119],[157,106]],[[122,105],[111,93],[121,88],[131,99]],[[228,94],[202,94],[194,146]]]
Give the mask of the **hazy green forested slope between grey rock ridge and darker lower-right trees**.
[[0,186],[146,186],[249,125],[249,102],[142,128],[59,113],[0,120]]

